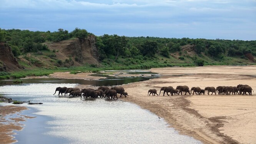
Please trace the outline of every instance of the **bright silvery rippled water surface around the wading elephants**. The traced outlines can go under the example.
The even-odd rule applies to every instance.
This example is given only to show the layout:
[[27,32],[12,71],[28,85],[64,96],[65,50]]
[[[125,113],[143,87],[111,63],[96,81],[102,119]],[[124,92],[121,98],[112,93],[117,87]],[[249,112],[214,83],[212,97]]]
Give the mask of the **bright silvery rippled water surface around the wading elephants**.
[[[39,110],[35,113],[37,115],[53,118],[45,124],[45,128],[50,129],[45,135],[61,137],[72,143],[201,143],[192,137],[178,134],[163,119],[158,119],[155,114],[135,104],[52,95],[58,86],[75,85],[38,83],[1,86],[0,93],[9,94],[13,99],[44,103],[30,107]],[[29,123],[26,125],[29,126]]]

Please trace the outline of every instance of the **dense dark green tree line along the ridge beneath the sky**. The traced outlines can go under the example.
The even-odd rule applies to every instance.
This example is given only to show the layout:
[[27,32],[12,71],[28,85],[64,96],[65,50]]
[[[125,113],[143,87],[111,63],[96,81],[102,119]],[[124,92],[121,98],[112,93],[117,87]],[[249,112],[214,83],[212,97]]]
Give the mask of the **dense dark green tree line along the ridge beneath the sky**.
[[[42,44],[46,41],[57,42],[70,38],[86,38],[89,35],[93,34],[80,28],[75,28],[71,32],[62,28],[53,32],[0,29],[0,41],[6,42],[12,48],[16,57],[30,51],[48,50],[48,47]],[[170,58],[170,53],[180,52],[182,46],[185,45],[193,46],[194,51],[199,56],[202,53],[211,57],[243,56],[246,53],[256,56],[255,40],[127,37],[107,34],[95,37],[100,61],[105,59],[116,60],[120,56],[148,59],[154,57],[156,53]]]

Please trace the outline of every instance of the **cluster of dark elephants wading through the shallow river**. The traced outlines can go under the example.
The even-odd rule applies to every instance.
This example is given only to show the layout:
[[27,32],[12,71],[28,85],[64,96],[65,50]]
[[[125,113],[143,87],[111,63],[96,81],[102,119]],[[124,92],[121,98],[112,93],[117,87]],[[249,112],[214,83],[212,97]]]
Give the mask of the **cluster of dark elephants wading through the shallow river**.
[[120,94],[120,97],[128,96],[128,93],[125,92],[125,89],[121,86],[114,86],[111,88],[109,88],[108,86],[100,86],[98,89],[84,88],[81,90],[79,88],[58,87],[55,89],[55,93],[56,91],[59,91],[58,95],[63,93],[64,95],[66,95],[67,93],[69,93],[69,96],[80,96],[81,98],[82,96],[84,98],[85,97],[98,98],[98,96],[100,96],[100,98],[104,97],[104,98],[115,99],[115,97],[117,98],[117,94]]

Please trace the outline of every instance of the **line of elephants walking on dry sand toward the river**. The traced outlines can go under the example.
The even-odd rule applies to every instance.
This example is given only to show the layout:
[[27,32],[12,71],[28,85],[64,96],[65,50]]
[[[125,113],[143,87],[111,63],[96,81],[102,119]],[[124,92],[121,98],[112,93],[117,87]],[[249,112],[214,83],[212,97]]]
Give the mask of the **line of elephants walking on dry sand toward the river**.
[[[185,92],[185,95],[187,93],[191,94],[193,91],[193,95],[194,93],[196,93],[196,95],[204,95],[205,91],[208,91],[208,95],[209,93],[211,93],[211,95],[213,93],[218,93],[220,95],[230,95],[231,93],[236,95],[236,94],[246,94],[249,93],[249,95],[251,95],[253,89],[251,88],[251,86],[248,86],[247,84],[238,84],[237,86],[217,86],[216,88],[214,87],[206,87],[204,89],[201,89],[199,87],[192,87],[191,89],[188,88],[188,86],[177,86],[176,89],[174,89],[172,86],[164,86],[160,89],[160,93],[161,91],[163,91],[163,96],[165,96],[165,93],[169,96],[168,93],[170,93],[172,96],[173,94],[178,95],[181,94],[182,92]],[[253,91],[254,92],[254,91]],[[148,90],[148,93],[152,94],[155,96],[155,94],[157,94],[156,89],[150,89]],[[160,95],[159,93],[159,95]],[[149,95],[150,95],[149,94]],[[158,94],[157,94],[158,95]],[[247,95],[247,94],[246,94]]]

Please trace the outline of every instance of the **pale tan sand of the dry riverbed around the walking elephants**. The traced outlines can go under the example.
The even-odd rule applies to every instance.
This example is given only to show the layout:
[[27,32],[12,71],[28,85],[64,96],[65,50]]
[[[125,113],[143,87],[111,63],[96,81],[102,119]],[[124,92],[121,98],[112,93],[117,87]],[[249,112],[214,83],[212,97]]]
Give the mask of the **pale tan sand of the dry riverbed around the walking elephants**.
[[[161,92],[161,96],[147,96],[148,89],[155,88],[159,94],[162,86],[176,88],[178,85],[204,88],[248,84],[256,90],[256,66],[171,67],[152,68],[150,71],[160,73],[161,78],[123,84],[129,96],[119,99],[148,109],[180,134],[193,136],[204,143],[256,144],[256,91],[252,96],[208,96],[207,91],[206,95],[163,96]],[[69,73],[54,73],[51,77],[87,79],[86,75]]]

